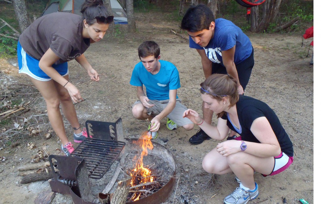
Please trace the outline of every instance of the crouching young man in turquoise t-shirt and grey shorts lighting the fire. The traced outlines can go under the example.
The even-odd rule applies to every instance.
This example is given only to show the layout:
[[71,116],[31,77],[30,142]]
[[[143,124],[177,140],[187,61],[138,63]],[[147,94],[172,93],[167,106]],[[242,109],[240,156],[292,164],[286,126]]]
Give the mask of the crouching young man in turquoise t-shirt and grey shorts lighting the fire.
[[[145,41],[138,47],[141,62],[134,67],[130,84],[137,87],[139,98],[133,105],[133,116],[140,120],[148,119],[152,139],[157,137],[160,120],[168,117],[167,128],[183,126],[191,130],[194,123],[183,118],[187,107],[180,103],[177,89],[180,87],[178,70],[172,63],[160,60],[160,47],[154,41]],[[146,87],[146,95],[143,90]]]

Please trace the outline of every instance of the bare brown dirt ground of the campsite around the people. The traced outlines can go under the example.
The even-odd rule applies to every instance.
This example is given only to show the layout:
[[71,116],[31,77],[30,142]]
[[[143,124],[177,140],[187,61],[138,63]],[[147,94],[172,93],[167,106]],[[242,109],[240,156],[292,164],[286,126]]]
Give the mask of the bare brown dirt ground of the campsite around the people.
[[[137,98],[135,87],[129,84],[134,65],[139,62],[137,48],[146,40],[159,43],[161,59],[177,66],[181,82],[178,96],[182,103],[202,113],[199,84],[204,81],[204,75],[200,57],[194,49],[188,47],[185,39],[170,32],[171,29],[178,30],[178,23],[159,23],[159,15],[166,14],[156,13],[152,18],[138,14],[138,33],[126,34],[126,26],[121,26],[117,28],[117,36],[106,35],[102,42],[90,46],[85,56],[99,72],[100,82],[91,82],[85,70],[75,61],[69,63],[70,80],[86,99],[75,105],[82,125],[86,120],[115,122],[121,117],[125,137],[136,137],[146,130],[147,123],[134,119],[131,114],[131,106]],[[309,65],[310,57],[305,57],[311,40],[305,40],[301,47],[300,34],[247,35],[254,47],[255,65],[245,94],[272,107],[294,146],[294,162],[290,168],[272,177],[255,174],[259,196],[248,203],[299,203],[298,200],[304,198],[313,204],[313,65]],[[24,75],[17,74],[18,68],[12,66],[12,63],[1,60],[0,68],[2,80],[31,84]],[[45,113],[46,105],[41,96],[20,96],[33,102],[29,106],[30,111],[14,119],[17,123],[32,114]],[[200,145],[191,145],[188,139],[198,127],[195,126],[191,131],[183,128],[170,131],[166,128],[166,120],[161,121],[159,136],[154,142],[169,149],[176,161],[179,182],[169,195],[168,203],[222,203],[224,197],[238,187],[234,175],[209,175],[201,165],[205,154],[219,141],[212,139]],[[72,130],[67,120],[64,121],[72,141]],[[213,124],[216,122],[214,116]],[[48,117],[37,117],[37,120],[32,119],[30,123],[43,130],[41,135],[30,137],[26,134],[15,147],[3,145],[3,149],[0,148],[0,156],[6,158],[0,162],[0,203],[34,203],[40,192],[50,191],[48,181],[21,184],[22,177],[18,176],[17,167],[30,163],[31,156],[40,147],[46,147],[46,151],[51,154],[61,154],[56,136],[45,139],[44,134],[50,129]],[[13,124],[8,124],[7,129],[13,127]],[[8,136],[2,135],[1,140],[4,137]],[[27,143],[30,142],[37,147],[29,150]],[[51,203],[68,204],[72,200],[57,193]]]

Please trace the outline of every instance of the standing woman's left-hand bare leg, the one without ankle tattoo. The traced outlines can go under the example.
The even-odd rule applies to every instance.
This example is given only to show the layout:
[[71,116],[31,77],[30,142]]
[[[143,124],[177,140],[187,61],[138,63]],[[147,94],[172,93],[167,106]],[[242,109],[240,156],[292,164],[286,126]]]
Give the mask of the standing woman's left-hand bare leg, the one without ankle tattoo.
[[64,122],[59,109],[59,95],[54,85],[54,80],[43,82],[33,79],[30,76],[28,77],[45,99],[49,122],[64,146],[69,141],[66,136]]

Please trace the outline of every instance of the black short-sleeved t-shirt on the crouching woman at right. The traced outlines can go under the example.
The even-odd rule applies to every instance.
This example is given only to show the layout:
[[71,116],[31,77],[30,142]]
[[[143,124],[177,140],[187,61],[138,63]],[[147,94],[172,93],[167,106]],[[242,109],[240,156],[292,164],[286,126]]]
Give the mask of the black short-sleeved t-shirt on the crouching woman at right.
[[[266,103],[255,98],[240,95],[239,101],[236,103],[236,109],[242,130],[240,133],[242,140],[260,143],[251,132],[251,125],[256,118],[266,117],[280,144],[281,151],[288,156],[293,156],[293,145],[288,134],[285,132],[277,115]],[[227,120],[227,126],[237,132],[226,115],[223,115],[221,118]]]

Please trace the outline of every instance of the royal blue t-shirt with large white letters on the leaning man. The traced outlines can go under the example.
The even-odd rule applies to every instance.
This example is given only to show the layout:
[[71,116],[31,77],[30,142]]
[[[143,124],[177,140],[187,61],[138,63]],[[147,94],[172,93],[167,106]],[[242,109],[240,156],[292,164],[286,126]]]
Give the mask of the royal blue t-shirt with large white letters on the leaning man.
[[226,51],[235,46],[234,63],[237,65],[247,59],[252,53],[250,39],[230,20],[216,19],[214,36],[206,47],[201,47],[189,37],[189,47],[202,50],[204,49],[208,59],[214,63],[223,65],[221,51]]

